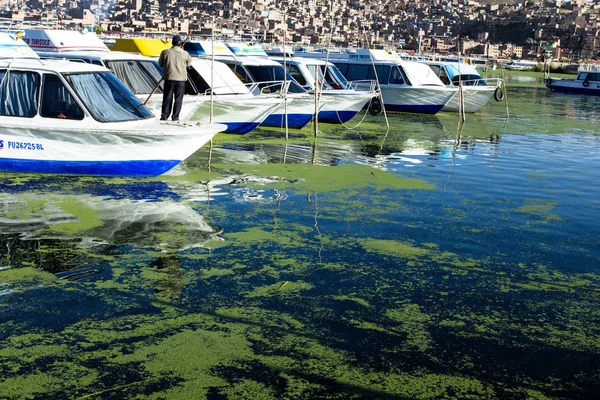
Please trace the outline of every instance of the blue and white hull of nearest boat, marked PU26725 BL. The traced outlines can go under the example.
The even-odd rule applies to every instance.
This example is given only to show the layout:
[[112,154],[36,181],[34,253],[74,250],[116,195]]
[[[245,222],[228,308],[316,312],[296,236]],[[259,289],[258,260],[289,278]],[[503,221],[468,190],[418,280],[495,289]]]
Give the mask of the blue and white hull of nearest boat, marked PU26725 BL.
[[34,123],[26,127],[7,121],[15,118],[2,119],[0,171],[22,173],[158,176],[225,129],[220,124],[191,126],[156,120],[137,126],[128,122],[106,124],[113,126],[102,128],[54,120],[70,127],[54,123],[40,128]]

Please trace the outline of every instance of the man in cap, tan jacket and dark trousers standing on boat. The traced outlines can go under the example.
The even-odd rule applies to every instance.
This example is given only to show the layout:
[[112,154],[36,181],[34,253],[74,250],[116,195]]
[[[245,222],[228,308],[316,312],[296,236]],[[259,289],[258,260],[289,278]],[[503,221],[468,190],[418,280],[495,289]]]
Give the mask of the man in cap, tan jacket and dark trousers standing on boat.
[[[192,57],[183,50],[181,36],[173,36],[173,47],[160,53],[158,64],[163,68],[165,91],[163,93],[160,119],[166,121],[169,115],[173,121],[179,121],[179,113],[183,104],[187,67],[192,64]],[[175,100],[175,101],[173,101]],[[171,114],[171,111],[173,112]]]

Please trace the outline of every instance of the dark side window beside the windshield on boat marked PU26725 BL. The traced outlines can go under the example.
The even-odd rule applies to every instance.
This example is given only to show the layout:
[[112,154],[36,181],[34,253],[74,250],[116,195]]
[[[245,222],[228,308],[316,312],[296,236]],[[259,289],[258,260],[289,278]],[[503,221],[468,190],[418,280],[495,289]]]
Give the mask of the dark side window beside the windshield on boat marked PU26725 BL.
[[84,117],[83,110],[58,75],[44,74],[42,107],[44,118],[78,119]]

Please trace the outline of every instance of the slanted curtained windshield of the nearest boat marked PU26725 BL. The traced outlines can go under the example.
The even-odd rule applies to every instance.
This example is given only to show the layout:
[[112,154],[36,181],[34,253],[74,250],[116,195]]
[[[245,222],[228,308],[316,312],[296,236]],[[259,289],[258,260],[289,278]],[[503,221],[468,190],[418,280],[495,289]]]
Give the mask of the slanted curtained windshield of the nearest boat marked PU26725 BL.
[[135,121],[153,116],[110,72],[71,73],[65,74],[65,79],[97,121]]

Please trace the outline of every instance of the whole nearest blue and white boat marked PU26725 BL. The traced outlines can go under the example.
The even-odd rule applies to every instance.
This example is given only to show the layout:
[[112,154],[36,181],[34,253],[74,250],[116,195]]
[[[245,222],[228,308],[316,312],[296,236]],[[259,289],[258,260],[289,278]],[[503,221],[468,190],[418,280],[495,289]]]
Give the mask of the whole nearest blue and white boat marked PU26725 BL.
[[158,121],[109,70],[40,60],[0,33],[0,171],[156,176],[221,124]]

